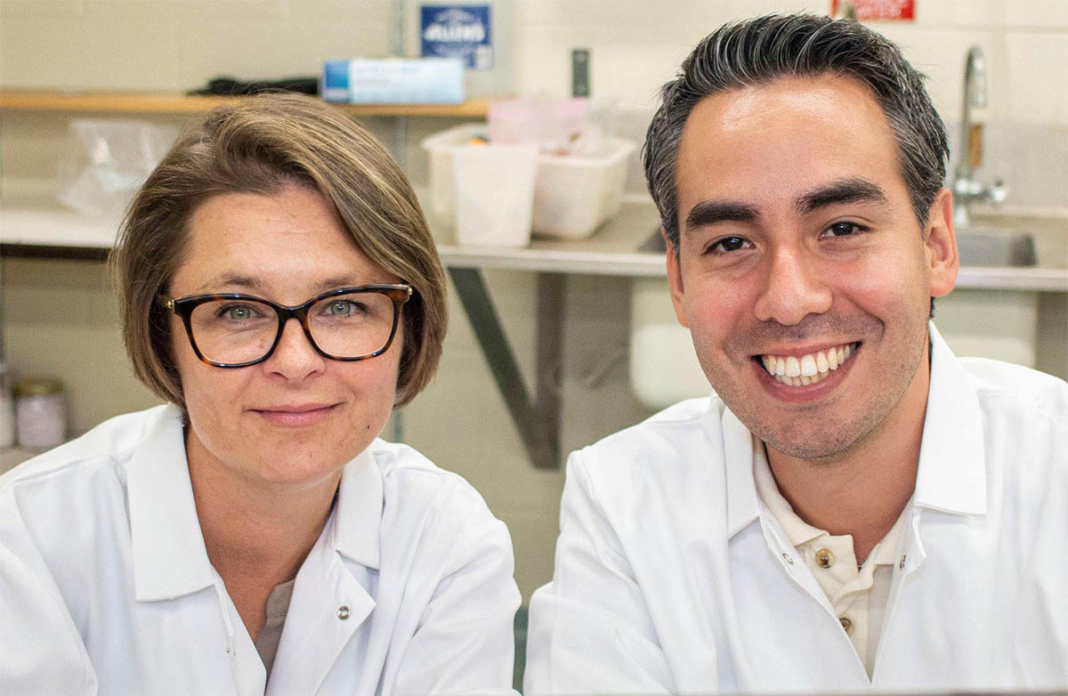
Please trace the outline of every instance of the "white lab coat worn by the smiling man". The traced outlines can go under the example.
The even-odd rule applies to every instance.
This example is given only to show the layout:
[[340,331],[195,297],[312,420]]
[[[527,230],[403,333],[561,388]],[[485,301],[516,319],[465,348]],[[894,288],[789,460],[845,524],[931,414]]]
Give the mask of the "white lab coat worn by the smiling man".
[[713,397],[571,456],[525,692],[1068,687],[1068,384],[931,341],[870,680]]

